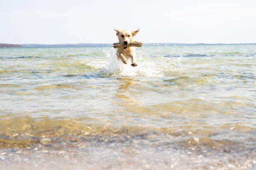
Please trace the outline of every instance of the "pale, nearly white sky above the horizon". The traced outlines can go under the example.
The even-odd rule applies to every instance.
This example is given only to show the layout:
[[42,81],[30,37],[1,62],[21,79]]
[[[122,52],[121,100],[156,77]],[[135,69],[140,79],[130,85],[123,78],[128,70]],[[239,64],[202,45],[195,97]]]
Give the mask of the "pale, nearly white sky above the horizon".
[[256,0],[0,0],[0,43],[256,43]]

